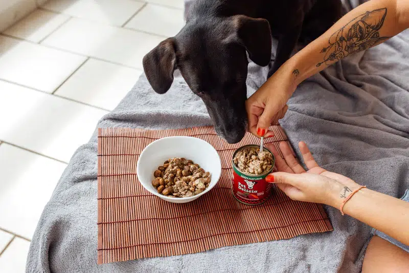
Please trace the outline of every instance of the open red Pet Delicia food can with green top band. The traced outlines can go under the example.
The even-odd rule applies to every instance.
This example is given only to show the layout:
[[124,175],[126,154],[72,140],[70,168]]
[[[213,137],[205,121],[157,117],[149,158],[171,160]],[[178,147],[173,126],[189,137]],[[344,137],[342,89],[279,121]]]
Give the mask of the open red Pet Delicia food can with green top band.
[[[258,174],[248,173],[244,170],[240,170],[239,165],[240,163],[241,163],[241,166],[243,165],[243,163],[240,162],[240,157],[244,161],[246,160],[246,156],[248,157],[248,154],[247,155],[243,154],[243,151],[248,151],[249,149],[257,149],[257,151],[259,151],[259,146],[258,145],[245,145],[237,149],[233,154],[232,191],[233,191],[233,196],[241,203],[244,203],[247,205],[258,205],[258,204],[261,204],[267,201],[267,199],[271,195],[272,185],[271,183],[266,182],[265,178],[274,169],[274,164],[276,163],[276,159],[270,150],[268,150],[267,148],[263,148],[264,152],[269,153],[271,155],[271,159],[268,159],[270,161],[270,164],[268,164],[268,166],[270,165],[271,166],[265,170],[259,169],[259,171],[262,170],[262,172],[258,172]],[[236,159],[236,163],[237,161],[239,161],[240,163],[236,164],[235,159]]]

